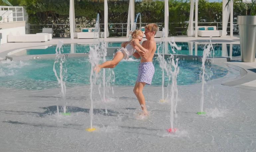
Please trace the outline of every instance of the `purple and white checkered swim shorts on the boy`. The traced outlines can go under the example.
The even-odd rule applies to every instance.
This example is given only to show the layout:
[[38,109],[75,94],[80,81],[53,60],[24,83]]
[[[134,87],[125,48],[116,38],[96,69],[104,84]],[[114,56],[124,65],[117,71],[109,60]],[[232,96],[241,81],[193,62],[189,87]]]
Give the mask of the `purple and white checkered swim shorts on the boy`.
[[136,82],[146,82],[151,85],[154,73],[155,67],[152,62],[141,62]]

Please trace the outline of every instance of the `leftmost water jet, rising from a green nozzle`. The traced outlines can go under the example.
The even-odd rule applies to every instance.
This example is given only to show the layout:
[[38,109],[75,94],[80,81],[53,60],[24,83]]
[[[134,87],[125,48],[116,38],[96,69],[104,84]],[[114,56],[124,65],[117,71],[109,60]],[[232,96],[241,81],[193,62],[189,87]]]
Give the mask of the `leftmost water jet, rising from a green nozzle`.
[[[66,57],[67,54],[63,54],[63,43],[61,41],[58,42],[58,45],[55,49],[56,52],[56,57],[55,57],[55,61],[53,64],[53,71],[54,74],[58,80],[58,84],[61,87],[61,96],[62,96],[62,102],[63,102],[63,115],[70,115],[70,113],[66,112],[66,79],[67,79],[67,67],[66,67]],[[56,65],[57,63],[59,63],[58,65]],[[57,71],[55,69],[55,66],[59,66],[60,67],[60,73],[59,75],[57,74]],[[57,112],[59,113],[59,106],[57,105]]]

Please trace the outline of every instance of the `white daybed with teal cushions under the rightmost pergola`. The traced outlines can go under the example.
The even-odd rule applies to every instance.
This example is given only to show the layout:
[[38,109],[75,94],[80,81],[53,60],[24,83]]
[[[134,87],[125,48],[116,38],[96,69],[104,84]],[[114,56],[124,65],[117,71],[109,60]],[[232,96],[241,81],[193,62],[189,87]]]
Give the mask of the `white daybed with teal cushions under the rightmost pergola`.
[[221,30],[217,30],[216,26],[197,26],[197,35],[201,37],[219,37],[222,35]]

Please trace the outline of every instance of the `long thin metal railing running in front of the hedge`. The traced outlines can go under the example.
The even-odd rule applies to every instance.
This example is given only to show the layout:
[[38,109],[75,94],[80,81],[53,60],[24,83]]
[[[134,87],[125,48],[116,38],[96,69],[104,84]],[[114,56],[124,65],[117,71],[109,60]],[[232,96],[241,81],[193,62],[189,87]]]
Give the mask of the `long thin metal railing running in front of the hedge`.
[[[146,26],[149,23],[141,23],[142,26]],[[159,26],[159,29],[162,30],[164,27],[164,23],[156,23]],[[194,24],[194,22],[193,22]],[[95,23],[84,23],[84,22],[76,22],[75,24],[75,32],[81,32],[81,28],[84,27],[94,27]],[[185,35],[188,29],[188,23],[169,23],[172,29],[169,29],[169,36],[170,31],[173,30],[175,35]],[[198,22],[198,26],[216,26],[217,30],[222,30],[222,22]],[[64,24],[29,24],[29,33],[39,33],[42,32],[43,27],[45,28],[53,28],[54,37],[70,37],[69,33],[69,23]],[[137,27],[139,27],[139,23],[137,23]],[[127,32],[127,23],[108,23],[109,29],[109,36],[126,36]],[[104,24],[100,24],[100,31],[104,31]],[[233,22],[233,33],[238,34],[239,28],[237,22]],[[227,33],[230,33],[230,22],[228,22],[227,26]]]

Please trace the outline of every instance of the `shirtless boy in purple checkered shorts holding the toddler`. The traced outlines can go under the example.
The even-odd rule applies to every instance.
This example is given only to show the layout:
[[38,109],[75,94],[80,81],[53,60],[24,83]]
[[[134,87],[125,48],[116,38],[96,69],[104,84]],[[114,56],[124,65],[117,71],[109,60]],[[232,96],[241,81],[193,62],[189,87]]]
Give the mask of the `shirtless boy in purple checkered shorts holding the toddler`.
[[[133,45],[133,47],[138,51],[137,53],[134,53],[133,56],[136,58],[141,57],[141,63],[139,65],[138,70],[138,77],[133,92],[141,105],[144,115],[148,115],[148,111],[146,107],[145,97],[142,91],[146,84],[151,85],[152,78],[155,73],[155,67],[152,63],[152,60],[157,49],[156,41],[154,39],[157,30],[158,26],[156,24],[148,24],[145,27],[144,33],[147,40],[143,41],[142,45],[140,45],[134,40],[130,42],[130,44]],[[148,52],[142,54],[141,48],[147,49]]]

